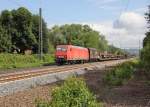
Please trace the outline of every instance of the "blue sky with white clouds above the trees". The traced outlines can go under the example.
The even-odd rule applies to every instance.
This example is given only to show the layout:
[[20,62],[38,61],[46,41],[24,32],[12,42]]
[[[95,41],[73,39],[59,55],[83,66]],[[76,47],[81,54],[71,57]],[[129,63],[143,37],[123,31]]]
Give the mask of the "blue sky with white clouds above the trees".
[[0,12],[26,7],[33,14],[42,8],[49,28],[88,24],[119,48],[142,47],[147,31],[144,13],[150,0],[0,0]]

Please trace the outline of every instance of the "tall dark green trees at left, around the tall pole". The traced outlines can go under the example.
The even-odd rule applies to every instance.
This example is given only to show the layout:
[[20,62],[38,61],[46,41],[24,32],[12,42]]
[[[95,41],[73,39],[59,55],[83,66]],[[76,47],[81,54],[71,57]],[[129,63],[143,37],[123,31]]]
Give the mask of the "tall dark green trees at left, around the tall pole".
[[[0,42],[1,52],[24,53],[25,50],[32,49],[38,52],[38,30],[39,16],[33,15],[26,8],[20,7],[17,10],[4,10],[0,15],[0,36],[1,40],[7,40],[7,43]],[[43,50],[48,52],[48,30],[43,20]],[[6,49],[7,47],[7,49]]]

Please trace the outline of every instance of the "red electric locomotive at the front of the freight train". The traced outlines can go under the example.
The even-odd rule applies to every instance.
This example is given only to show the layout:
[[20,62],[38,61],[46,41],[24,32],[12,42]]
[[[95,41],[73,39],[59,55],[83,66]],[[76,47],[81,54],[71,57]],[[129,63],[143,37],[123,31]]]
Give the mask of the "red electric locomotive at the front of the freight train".
[[56,63],[84,63],[89,60],[87,48],[73,45],[58,45],[55,53]]

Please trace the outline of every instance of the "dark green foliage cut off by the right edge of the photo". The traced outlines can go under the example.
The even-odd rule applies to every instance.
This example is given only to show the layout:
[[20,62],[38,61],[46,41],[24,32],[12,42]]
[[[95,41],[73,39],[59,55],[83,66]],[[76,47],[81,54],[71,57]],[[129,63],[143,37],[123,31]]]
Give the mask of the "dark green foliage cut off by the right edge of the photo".
[[150,6],[148,9],[149,10],[146,13],[148,32],[146,33],[146,37],[143,40],[143,49],[141,51],[141,62],[143,63],[143,66],[148,71],[150,71]]

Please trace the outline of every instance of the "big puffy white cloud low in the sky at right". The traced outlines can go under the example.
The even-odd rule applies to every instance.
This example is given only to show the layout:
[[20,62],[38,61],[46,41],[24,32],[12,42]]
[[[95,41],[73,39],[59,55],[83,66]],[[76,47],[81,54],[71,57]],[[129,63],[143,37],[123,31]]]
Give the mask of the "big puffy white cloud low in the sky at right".
[[106,36],[110,44],[121,48],[138,48],[139,40],[145,37],[146,21],[144,16],[134,13],[122,13],[117,21],[86,23]]

